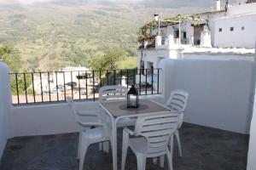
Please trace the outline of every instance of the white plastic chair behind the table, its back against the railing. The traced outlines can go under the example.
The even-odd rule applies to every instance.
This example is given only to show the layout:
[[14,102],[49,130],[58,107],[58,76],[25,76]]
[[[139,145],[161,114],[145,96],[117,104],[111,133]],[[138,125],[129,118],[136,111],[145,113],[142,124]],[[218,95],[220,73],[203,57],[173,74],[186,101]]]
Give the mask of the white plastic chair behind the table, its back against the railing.
[[[112,85],[104,86],[99,90],[99,101],[108,102],[111,100],[119,100],[127,98],[128,89],[124,86]],[[117,127],[134,126],[135,121],[131,118],[120,119],[117,123]]]

